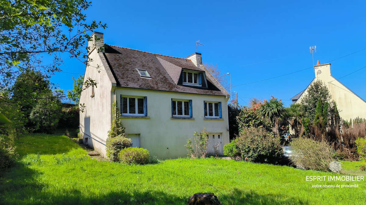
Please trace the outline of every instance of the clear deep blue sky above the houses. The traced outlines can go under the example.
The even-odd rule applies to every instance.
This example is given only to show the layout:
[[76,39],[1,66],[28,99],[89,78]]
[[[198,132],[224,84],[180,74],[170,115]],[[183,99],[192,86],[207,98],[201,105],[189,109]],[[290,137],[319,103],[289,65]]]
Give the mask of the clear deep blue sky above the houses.
[[[104,41],[152,53],[187,57],[200,46],[204,63],[231,73],[232,93],[246,105],[250,98],[283,99],[285,105],[314,78],[314,61],[326,63],[366,48],[366,2],[353,1],[93,1],[89,19],[107,23]],[[340,78],[366,66],[366,50],[332,61]],[[83,74],[85,66],[65,58],[64,72]],[[57,73],[52,82],[72,89],[70,73]],[[339,79],[366,100],[366,68]],[[239,85],[239,86],[236,86]],[[230,91],[229,91],[230,92]]]

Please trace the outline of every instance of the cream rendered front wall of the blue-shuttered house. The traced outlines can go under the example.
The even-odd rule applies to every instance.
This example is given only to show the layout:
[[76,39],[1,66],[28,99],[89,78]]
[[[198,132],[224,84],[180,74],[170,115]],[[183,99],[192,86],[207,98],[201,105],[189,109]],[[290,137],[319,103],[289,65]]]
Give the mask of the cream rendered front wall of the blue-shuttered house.
[[[178,158],[186,156],[186,140],[194,131],[206,127],[208,132],[223,133],[222,146],[229,143],[228,110],[225,96],[210,96],[163,92],[145,89],[117,88],[116,99],[120,107],[120,95],[147,96],[147,116],[149,119],[121,118],[127,134],[140,134],[140,147],[158,158]],[[171,98],[192,100],[194,120],[171,119]],[[203,101],[220,101],[223,120],[204,120]]]

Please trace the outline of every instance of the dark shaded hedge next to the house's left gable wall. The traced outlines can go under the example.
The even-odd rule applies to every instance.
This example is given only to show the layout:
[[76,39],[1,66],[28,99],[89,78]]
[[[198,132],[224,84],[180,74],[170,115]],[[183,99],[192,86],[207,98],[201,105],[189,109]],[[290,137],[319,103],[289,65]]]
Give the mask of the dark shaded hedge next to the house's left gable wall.
[[61,104],[58,129],[78,128],[79,126],[79,105],[63,103]]

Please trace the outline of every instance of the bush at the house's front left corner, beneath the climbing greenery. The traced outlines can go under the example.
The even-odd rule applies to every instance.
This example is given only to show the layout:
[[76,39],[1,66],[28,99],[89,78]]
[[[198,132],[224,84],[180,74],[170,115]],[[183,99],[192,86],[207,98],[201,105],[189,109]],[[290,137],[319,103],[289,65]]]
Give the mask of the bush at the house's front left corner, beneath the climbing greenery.
[[114,138],[107,138],[106,152],[107,157],[111,162],[118,162],[118,153],[127,147],[131,147],[132,140],[126,138],[126,134],[117,135]]

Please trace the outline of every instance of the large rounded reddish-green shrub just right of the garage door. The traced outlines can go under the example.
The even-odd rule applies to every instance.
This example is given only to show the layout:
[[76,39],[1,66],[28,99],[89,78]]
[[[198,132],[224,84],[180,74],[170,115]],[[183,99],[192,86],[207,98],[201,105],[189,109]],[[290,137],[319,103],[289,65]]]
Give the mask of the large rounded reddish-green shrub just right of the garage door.
[[278,163],[283,156],[280,138],[264,128],[245,128],[235,144],[240,158],[249,162]]

